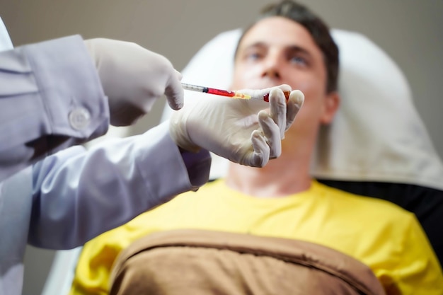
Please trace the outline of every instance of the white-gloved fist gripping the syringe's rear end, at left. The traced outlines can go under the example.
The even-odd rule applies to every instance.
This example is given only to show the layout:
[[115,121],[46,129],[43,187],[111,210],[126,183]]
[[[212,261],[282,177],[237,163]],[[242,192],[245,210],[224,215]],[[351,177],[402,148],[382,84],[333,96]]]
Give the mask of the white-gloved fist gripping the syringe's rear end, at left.
[[174,110],[183,106],[181,74],[166,57],[132,42],[97,38],[84,43],[108,96],[111,125],[133,124],[163,94]]

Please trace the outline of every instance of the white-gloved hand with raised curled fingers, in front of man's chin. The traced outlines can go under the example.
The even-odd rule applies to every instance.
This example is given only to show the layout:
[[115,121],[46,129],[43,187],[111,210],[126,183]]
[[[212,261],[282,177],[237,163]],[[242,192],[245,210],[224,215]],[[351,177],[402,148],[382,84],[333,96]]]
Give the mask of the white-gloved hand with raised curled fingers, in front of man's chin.
[[235,163],[263,167],[280,156],[284,132],[304,102],[301,91],[291,91],[287,101],[283,91],[291,87],[241,91],[254,97],[270,93],[269,103],[220,96],[186,103],[171,116],[171,137],[188,151],[204,148]]

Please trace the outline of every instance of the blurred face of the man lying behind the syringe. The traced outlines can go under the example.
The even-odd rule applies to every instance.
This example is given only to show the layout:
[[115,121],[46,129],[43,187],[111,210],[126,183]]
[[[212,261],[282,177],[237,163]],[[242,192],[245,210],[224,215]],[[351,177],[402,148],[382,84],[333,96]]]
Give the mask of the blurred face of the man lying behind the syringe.
[[[326,66],[308,30],[282,17],[265,18],[243,36],[234,65],[232,89],[289,84],[305,95],[294,122],[299,132],[313,134],[328,115]],[[303,130],[301,130],[303,129]]]

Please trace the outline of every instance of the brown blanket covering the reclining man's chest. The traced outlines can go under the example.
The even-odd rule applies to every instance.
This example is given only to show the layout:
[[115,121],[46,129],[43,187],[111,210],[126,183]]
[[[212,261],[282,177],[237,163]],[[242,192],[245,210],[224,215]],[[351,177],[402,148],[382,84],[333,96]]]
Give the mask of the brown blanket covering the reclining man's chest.
[[154,233],[117,258],[110,294],[385,294],[367,265],[321,245],[201,230]]

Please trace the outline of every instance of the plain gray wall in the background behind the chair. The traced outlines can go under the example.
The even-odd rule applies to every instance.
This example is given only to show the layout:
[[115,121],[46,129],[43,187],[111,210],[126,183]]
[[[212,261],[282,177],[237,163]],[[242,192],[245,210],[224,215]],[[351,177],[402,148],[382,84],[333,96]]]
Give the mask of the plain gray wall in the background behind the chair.
[[[268,0],[1,0],[0,16],[14,45],[64,35],[128,40],[159,52],[183,69],[215,34],[253,21]],[[302,0],[333,28],[356,30],[401,66],[415,105],[440,156],[443,110],[443,1]],[[156,103],[135,133],[159,121]],[[39,294],[53,252],[28,248],[23,294]]]

